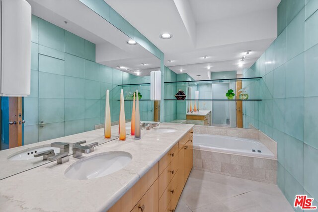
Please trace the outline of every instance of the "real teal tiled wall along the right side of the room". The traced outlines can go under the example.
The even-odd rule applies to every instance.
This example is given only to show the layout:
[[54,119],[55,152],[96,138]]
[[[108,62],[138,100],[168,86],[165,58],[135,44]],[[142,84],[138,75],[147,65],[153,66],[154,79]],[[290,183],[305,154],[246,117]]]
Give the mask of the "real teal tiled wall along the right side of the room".
[[[277,184],[291,205],[296,194],[318,199],[317,2],[282,0],[273,52],[271,45],[250,69],[243,70],[244,77],[262,77],[259,96],[263,99],[258,114],[253,114],[249,103],[243,103],[245,124],[257,122],[259,129],[277,142]],[[265,71],[261,70],[263,64]],[[252,85],[247,86],[252,92]]]

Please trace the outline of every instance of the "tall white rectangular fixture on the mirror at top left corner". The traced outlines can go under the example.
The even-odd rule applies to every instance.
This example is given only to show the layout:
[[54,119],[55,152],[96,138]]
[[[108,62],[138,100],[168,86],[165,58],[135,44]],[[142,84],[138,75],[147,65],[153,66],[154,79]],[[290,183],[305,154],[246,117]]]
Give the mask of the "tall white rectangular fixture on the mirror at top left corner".
[[31,75],[31,6],[25,0],[0,2],[0,96],[27,96]]

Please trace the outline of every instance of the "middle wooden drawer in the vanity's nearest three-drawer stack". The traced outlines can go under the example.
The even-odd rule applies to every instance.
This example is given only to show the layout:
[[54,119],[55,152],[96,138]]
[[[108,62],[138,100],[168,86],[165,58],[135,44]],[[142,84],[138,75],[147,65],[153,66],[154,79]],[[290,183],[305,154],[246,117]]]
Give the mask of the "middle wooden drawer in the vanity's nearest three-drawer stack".
[[178,170],[179,154],[169,163],[169,165],[164,169],[164,171],[159,176],[159,197],[163,194],[163,191],[167,188],[172,177],[176,174]]

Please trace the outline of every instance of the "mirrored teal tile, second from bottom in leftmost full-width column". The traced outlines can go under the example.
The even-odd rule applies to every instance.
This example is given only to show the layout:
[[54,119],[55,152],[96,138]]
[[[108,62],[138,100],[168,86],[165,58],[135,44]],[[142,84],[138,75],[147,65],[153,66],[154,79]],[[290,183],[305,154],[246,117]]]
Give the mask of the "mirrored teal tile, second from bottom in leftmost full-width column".
[[39,121],[44,124],[64,121],[64,99],[40,98]]

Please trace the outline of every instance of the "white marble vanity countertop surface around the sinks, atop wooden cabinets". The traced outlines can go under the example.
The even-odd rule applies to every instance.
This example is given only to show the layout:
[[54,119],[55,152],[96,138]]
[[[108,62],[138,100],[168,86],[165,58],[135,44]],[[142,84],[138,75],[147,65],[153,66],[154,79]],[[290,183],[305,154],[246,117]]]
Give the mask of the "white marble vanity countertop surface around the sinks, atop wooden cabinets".
[[[0,180],[0,211],[35,212],[105,212],[115,204],[149,169],[177,143],[194,125],[160,123],[159,127],[178,129],[172,133],[142,130],[142,139],[130,135],[95,147],[87,157],[109,151],[130,153],[132,161],[123,169],[104,177],[73,180],[65,170],[79,159],[57,164],[49,162],[31,170]],[[104,141],[102,129],[86,132],[94,142]],[[97,136],[99,134],[99,136]],[[168,136],[167,136],[168,134]],[[86,139],[86,137],[81,137]],[[84,154],[85,155],[85,154]]]

